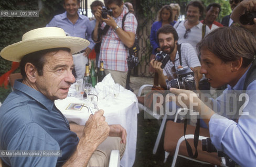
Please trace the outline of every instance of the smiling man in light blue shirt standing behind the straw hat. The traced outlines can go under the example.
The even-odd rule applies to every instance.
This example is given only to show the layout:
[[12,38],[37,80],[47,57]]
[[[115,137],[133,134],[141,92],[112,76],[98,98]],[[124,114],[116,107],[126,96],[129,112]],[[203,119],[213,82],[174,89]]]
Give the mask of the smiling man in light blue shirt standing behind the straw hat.
[[46,27],[59,27],[62,28],[67,35],[90,41],[88,47],[85,47],[82,51],[73,53],[76,77],[83,78],[86,72],[86,64],[88,63],[87,56],[92,51],[94,42],[91,38],[93,28],[90,26],[90,20],[88,17],[78,13],[79,4],[80,0],[63,0],[63,8],[66,10],[65,13],[54,16]]

